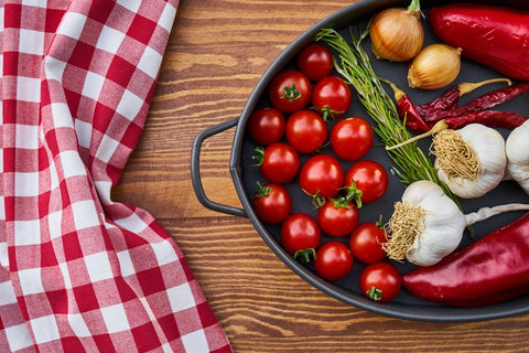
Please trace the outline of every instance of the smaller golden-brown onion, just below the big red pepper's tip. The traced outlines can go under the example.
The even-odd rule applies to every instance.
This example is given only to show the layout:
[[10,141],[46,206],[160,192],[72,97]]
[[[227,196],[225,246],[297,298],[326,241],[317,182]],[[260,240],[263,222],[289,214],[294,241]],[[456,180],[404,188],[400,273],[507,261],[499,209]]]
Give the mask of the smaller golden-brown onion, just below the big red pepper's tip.
[[461,49],[435,43],[424,47],[408,68],[411,88],[438,89],[450,85],[460,74]]

